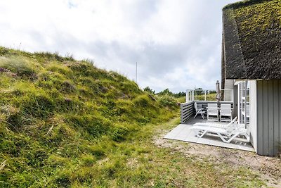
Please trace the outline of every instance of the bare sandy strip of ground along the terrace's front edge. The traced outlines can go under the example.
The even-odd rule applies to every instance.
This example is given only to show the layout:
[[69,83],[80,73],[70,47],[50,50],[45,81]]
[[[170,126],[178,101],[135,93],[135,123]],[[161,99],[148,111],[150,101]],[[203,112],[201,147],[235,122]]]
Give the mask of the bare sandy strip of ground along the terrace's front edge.
[[196,156],[201,159],[208,157],[212,163],[227,163],[234,168],[247,167],[258,173],[268,187],[281,187],[281,158],[259,156],[250,151],[164,139],[164,135],[168,132],[159,130],[153,137],[154,144],[158,147],[170,148],[172,151],[179,151],[185,156]]

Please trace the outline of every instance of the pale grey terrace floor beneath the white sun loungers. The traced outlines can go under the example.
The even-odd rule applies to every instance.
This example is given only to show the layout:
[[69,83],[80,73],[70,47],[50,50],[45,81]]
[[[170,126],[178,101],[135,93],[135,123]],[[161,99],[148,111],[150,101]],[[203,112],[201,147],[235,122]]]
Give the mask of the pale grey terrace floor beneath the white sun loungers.
[[[192,127],[195,123],[201,123],[201,122],[207,122],[207,120],[203,120],[200,115],[197,115],[197,117],[190,118],[188,122],[185,124],[180,124],[177,127],[175,127],[171,132],[166,134],[164,136],[165,139],[175,139],[175,140],[181,140],[183,142],[193,142],[197,144],[207,144],[210,146],[220,146],[230,149],[240,149],[244,151],[254,151],[253,146],[251,146],[251,143],[247,142],[246,139],[237,138],[233,139],[232,142],[224,143],[220,137],[212,135],[204,135],[202,138],[196,137],[196,134],[194,131],[190,130],[189,128]],[[214,123],[214,122],[212,122]],[[218,122],[216,122],[218,123]]]

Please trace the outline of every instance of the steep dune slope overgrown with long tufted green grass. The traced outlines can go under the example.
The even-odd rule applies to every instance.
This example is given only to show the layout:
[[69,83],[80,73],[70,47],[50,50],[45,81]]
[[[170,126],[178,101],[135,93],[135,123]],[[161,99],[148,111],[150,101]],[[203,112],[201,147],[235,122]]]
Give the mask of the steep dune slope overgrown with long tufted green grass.
[[70,186],[65,169],[96,163],[104,143],[176,110],[122,75],[57,54],[0,47],[0,78],[0,187]]

